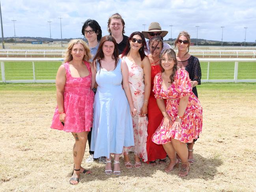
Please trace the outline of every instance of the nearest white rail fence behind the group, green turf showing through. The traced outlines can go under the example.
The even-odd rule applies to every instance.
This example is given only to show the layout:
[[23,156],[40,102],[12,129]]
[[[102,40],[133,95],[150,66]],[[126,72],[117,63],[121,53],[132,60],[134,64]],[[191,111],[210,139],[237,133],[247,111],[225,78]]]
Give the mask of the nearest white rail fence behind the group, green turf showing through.
[[[256,59],[200,58],[202,82],[256,82]],[[62,58],[0,58],[0,82],[55,82]]]

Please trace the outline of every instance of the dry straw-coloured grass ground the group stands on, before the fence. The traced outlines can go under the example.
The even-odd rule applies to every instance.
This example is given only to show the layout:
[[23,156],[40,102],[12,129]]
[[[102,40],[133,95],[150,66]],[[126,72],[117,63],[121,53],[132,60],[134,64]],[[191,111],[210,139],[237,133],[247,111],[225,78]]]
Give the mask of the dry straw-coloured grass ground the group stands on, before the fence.
[[56,105],[53,84],[0,84],[0,191],[256,191],[256,84],[202,84],[203,132],[194,146],[196,162],[189,175],[178,169],[165,173],[165,165],[105,175],[104,165],[82,166],[70,185],[74,139],[50,129]]

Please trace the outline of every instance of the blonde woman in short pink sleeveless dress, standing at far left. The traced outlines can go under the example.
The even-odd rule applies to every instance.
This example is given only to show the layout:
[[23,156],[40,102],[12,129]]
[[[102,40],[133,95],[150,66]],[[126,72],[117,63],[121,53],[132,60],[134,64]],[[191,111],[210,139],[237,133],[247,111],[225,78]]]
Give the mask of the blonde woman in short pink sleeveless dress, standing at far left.
[[81,167],[84,157],[87,135],[93,121],[92,58],[88,45],[79,39],[70,41],[56,75],[57,107],[51,128],[71,132],[75,144],[73,147],[74,171],[69,183],[78,184],[80,173],[91,173]]

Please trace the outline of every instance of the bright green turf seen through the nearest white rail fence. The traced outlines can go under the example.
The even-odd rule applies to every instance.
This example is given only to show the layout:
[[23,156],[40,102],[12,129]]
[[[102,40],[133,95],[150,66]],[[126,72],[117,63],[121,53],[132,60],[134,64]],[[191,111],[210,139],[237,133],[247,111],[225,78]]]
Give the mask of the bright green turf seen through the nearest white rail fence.
[[[61,62],[34,62],[36,80],[54,80]],[[207,62],[201,62],[207,79]],[[234,79],[235,62],[210,62],[209,79]],[[32,62],[5,62],[6,80],[33,80]],[[256,62],[240,62],[237,79],[256,79]],[[2,76],[0,76],[2,80]]]

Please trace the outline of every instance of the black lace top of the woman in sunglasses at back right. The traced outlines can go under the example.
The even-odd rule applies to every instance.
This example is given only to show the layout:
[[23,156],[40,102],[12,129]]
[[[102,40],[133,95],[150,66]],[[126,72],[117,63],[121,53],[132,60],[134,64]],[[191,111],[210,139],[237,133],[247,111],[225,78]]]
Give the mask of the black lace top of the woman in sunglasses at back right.
[[[198,58],[191,55],[189,59],[185,61],[178,61],[178,67],[186,69],[186,71],[189,73],[189,78],[191,81],[197,81],[198,85],[201,84],[202,73]],[[196,87],[193,87],[192,91],[198,98]]]

